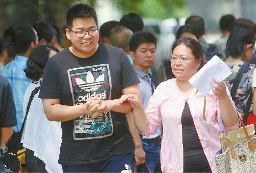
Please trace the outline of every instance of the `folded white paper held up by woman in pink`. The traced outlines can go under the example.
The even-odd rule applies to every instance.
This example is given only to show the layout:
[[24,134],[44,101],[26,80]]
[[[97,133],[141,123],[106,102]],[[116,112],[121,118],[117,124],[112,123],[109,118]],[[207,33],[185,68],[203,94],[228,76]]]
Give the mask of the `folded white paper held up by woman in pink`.
[[219,58],[219,56],[215,55],[189,79],[189,82],[205,96],[213,89],[211,85],[211,82],[214,82],[213,78],[222,81],[230,74],[231,71],[228,66]]

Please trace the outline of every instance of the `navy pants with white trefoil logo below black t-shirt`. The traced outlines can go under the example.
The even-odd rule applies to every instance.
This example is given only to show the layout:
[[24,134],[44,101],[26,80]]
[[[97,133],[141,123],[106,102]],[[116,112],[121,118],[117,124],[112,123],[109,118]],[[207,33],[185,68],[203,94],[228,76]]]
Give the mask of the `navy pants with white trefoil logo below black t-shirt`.
[[134,155],[124,154],[112,156],[105,162],[90,163],[85,165],[63,165],[63,172],[133,172],[134,171]]

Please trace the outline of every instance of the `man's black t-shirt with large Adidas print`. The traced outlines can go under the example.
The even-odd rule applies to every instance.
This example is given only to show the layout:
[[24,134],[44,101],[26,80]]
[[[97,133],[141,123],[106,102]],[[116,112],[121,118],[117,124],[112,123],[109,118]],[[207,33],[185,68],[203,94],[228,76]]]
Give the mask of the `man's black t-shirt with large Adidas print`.
[[[64,49],[45,67],[39,98],[59,98],[63,105],[83,104],[88,98],[119,99],[122,90],[139,83],[126,54],[120,48],[99,43],[94,55],[75,56]],[[79,165],[133,153],[133,140],[124,113],[106,112],[61,122],[59,163]]]

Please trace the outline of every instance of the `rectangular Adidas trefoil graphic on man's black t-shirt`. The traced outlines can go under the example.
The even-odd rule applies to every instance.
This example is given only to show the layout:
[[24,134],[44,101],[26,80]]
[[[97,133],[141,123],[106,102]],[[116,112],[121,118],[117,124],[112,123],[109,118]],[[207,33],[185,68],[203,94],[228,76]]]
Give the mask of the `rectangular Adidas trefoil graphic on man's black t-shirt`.
[[[111,98],[111,77],[108,64],[67,70],[74,105],[86,103],[91,97]],[[74,119],[74,139],[102,138],[112,135],[110,112],[98,118],[84,114]]]

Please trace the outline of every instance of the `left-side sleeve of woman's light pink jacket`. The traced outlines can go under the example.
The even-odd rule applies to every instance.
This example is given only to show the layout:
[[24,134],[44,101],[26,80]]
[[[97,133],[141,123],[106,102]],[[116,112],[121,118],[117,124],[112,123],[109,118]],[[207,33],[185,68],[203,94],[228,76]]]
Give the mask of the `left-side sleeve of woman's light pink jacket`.
[[148,129],[141,134],[144,136],[152,135],[159,125],[162,124],[162,117],[160,112],[160,100],[158,97],[158,88],[155,90],[154,94],[150,97],[148,102],[148,107],[145,110],[146,116],[149,121]]

